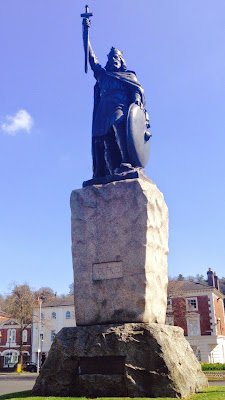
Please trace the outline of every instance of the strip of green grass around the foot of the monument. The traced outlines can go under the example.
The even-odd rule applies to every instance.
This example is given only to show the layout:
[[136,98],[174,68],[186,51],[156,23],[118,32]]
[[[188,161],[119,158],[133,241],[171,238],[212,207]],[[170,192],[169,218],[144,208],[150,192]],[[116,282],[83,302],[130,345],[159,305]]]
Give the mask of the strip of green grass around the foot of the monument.
[[[19,393],[13,393],[13,394],[5,394],[0,396],[0,400],[13,400],[13,399],[26,399],[26,400],[87,400],[86,397],[33,397],[31,390],[28,390],[26,392],[19,392]],[[107,398],[98,398],[98,400],[122,400],[122,399],[128,399],[128,397],[107,397]],[[157,397],[154,399],[150,398],[134,398],[132,400],[171,400],[169,397]],[[93,400],[93,399],[90,399]],[[197,393],[192,395],[191,397],[188,398],[188,400],[225,400],[225,386],[211,386],[209,389],[204,390],[201,393]]]

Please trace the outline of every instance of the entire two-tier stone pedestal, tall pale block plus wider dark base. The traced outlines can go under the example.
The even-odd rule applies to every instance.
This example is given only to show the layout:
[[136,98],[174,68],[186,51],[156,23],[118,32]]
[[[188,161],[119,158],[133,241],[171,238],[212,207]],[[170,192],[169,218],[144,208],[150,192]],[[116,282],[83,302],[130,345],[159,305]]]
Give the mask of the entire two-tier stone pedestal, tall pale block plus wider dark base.
[[76,328],[57,335],[40,396],[176,397],[207,387],[183,330],[164,325],[168,210],[148,179],[71,195]]

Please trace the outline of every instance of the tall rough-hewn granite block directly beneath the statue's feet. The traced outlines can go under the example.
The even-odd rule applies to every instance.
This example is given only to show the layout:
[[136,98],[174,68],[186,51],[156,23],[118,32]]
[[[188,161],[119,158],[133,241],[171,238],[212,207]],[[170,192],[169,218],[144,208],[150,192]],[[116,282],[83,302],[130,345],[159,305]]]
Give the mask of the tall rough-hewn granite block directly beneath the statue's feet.
[[74,190],[71,211],[77,325],[164,323],[168,209],[156,185],[138,178]]

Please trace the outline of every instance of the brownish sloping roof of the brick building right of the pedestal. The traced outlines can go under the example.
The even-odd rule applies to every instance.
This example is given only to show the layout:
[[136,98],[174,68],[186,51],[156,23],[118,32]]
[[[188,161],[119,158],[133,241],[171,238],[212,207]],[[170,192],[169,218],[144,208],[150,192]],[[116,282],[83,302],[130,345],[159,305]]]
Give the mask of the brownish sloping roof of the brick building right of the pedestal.
[[221,298],[224,297],[224,295],[217,290],[213,286],[209,286],[207,283],[198,283],[194,281],[188,281],[188,280],[172,280],[169,281],[168,284],[168,291],[172,295],[181,295],[183,292],[192,292],[192,291],[215,291],[217,292],[218,295],[220,295]]

